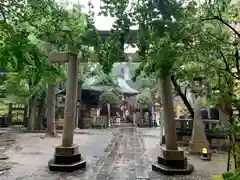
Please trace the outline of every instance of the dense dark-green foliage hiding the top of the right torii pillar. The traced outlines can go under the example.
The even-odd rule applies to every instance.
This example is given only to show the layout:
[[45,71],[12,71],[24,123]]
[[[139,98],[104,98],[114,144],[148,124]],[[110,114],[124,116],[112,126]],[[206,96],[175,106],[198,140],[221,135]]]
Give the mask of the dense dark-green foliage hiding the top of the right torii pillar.
[[187,16],[189,6],[183,7],[181,2],[177,1],[168,1],[166,4],[160,1],[140,2],[135,14],[136,21],[141,24],[138,38],[139,55],[144,58],[136,75],[142,70],[147,74],[169,75],[181,54],[192,43],[188,33],[192,18]]

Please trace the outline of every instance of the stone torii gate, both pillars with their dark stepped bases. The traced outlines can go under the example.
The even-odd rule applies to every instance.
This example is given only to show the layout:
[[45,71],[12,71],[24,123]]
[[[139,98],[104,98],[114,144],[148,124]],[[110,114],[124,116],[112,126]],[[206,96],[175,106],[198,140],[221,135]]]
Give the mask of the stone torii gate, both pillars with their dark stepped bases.
[[[101,32],[99,34],[101,35]],[[48,166],[51,171],[71,172],[86,167],[86,161],[82,159],[78,145],[73,144],[77,99],[77,56],[73,52],[53,53],[49,55],[49,61],[52,63],[68,62],[64,132],[62,144],[56,146],[54,158],[49,161]],[[159,157],[157,158],[157,162],[152,165],[152,169],[167,174],[189,174],[193,171],[193,166],[187,163],[184,151],[177,146],[170,76],[160,81],[160,88],[162,88],[161,90],[165,95],[165,97],[162,97],[162,103],[164,107],[164,124],[166,127],[166,147],[160,147]]]

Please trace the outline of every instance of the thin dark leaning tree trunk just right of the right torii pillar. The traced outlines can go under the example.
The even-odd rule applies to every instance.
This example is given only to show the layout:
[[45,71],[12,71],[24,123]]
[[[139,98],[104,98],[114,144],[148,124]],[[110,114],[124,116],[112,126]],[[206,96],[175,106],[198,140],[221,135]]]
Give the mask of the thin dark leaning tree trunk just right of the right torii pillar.
[[185,106],[188,109],[188,112],[190,113],[191,117],[194,118],[194,111],[193,108],[191,106],[191,104],[189,103],[186,95],[182,92],[180,85],[177,83],[176,78],[174,76],[171,76],[171,81],[173,83],[173,86],[175,88],[175,91],[177,91],[177,93],[179,94],[179,96],[181,97],[183,103],[185,104]]

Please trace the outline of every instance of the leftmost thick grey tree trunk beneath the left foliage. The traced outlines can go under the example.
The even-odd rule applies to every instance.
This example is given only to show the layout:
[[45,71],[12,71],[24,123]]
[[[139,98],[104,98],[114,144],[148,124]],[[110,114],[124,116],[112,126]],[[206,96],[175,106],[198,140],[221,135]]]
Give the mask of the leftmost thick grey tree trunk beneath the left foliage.
[[29,108],[29,119],[27,129],[29,131],[33,131],[36,122],[36,113],[37,113],[37,99],[36,97],[32,97],[30,100],[30,108]]

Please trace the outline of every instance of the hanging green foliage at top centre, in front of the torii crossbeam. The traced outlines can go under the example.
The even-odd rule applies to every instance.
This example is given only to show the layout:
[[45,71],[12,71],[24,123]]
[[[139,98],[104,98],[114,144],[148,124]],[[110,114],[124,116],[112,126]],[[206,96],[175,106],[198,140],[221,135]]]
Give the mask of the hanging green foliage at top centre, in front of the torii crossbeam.
[[101,0],[101,15],[112,16],[116,20],[111,29],[110,37],[102,42],[97,48],[96,52],[103,72],[109,74],[112,66],[117,61],[125,61],[124,44],[130,37],[130,9],[129,0]]

